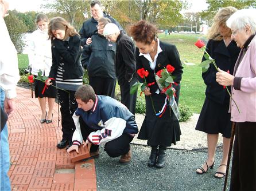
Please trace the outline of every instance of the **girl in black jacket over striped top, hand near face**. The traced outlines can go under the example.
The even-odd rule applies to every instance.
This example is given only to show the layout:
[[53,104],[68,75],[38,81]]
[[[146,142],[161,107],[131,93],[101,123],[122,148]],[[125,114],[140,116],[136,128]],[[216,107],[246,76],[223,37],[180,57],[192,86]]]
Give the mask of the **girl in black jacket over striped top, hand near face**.
[[75,29],[61,17],[52,18],[49,23],[49,38],[52,41],[52,67],[46,85],[56,80],[59,87],[59,102],[63,138],[57,148],[72,145],[75,124],[72,116],[77,108],[74,97],[76,89],[83,84],[83,69],[79,58],[81,53],[80,37]]

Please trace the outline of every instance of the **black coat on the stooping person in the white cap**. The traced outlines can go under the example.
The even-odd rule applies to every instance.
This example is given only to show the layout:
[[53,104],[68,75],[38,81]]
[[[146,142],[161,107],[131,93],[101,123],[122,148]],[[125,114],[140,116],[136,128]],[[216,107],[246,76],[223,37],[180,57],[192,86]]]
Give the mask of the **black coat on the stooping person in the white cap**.
[[131,38],[122,31],[117,38],[117,53],[115,54],[115,71],[119,85],[130,81],[136,70],[135,46]]

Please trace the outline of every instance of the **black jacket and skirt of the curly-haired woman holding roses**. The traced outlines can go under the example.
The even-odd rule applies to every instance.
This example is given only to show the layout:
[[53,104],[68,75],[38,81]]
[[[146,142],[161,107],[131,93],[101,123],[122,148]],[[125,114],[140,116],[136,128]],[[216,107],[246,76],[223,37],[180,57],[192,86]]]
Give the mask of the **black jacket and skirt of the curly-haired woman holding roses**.
[[[165,103],[166,95],[156,93],[158,86],[156,84],[156,79],[154,78],[154,73],[156,73],[158,70],[164,69],[166,65],[170,64],[175,68],[172,74],[176,77],[174,79],[176,83],[180,82],[181,74],[183,73],[183,67],[181,66],[179,52],[177,51],[176,46],[160,41],[160,47],[162,52],[158,54],[156,68],[154,70],[150,68],[148,59],[143,57],[143,55],[139,56],[139,51],[138,49],[136,50],[137,70],[141,69],[142,67],[145,70],[148,70],[149,75],[146,77],[146,82],[155,82],[154,85],[150,86],[150,93],[152,93],[151,98],[153,100],[153,105],[156,112],[162,109],[162,106]],[[138,78],[140,82],[144,82],[142,78]],[[176,89],[176,102],[178,104],[180,85],[175,86],[174,88]],[[148,140],[149,146],[170,146],[172,144],[176,144],[176,141],[180,141],[180,124],[172,111],[170,114],[169,106],[166,108],[165,113],[160,118],[156,116],[156,113],[154,113],[150,96],[145,95],[145,98],[146,116],[138,134],[138,138],[141,140]]]

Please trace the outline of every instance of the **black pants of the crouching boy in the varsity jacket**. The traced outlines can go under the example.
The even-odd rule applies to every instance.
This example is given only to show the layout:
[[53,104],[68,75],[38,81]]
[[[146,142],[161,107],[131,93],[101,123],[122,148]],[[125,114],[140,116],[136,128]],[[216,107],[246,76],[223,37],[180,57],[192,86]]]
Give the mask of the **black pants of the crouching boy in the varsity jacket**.
[[[85,142],[89,134],[91,132],[95,132],[96,130],[89,128],[88,125],[86,125],[86,123],[83,121],[82,117],[79,118],[79,122],[83,140]],[[133,141],[133,137],[127,133],[123,133],[122,136],[107,142],[104,146],[104,150],[110,157],[119,157],[129,152],[131,141]],[[99,145],[91,145],[91,152],[95,152],[98,149]]]

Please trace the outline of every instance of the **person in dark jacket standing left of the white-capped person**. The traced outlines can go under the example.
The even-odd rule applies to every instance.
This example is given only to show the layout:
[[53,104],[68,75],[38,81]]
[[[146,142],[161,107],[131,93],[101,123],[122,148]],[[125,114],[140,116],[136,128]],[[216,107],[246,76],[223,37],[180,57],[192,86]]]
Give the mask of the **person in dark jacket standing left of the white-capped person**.
[[89,84],[97,95],[108,95],[115,98],[115,43],[108,43],[103,36],[103,29],[110,19],[99,19],[98,33],[92,35],[92,43],[83,48],[82,65],[87,68]]

